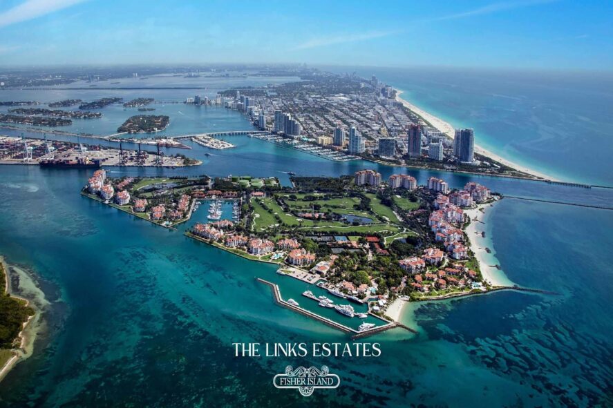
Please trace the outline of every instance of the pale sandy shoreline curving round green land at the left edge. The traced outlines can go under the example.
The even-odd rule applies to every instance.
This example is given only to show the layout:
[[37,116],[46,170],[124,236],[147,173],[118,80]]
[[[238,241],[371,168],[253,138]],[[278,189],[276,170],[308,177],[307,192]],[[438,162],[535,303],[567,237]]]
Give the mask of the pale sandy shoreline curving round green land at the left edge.
[[[6,360],[5,364],[0,367],[0,382],[6,378],[10,370],[17,365],[20,361],[26,360],[32,356],[34,352],[34,343],[41,328],[41,315],[42,309],[49,304],[46,300],[44,293],[36,286],[34,280],[30,278],[28,273],[18,266],[10,265],[6,262],[6,259],[0,255],[0,263],[4,268],[6,278],[6,293],[10,294],[11,298],[20,299],[26,302],[26,306],[32,307],[35,313],[31,315],[26,322],[23,322],[21,331],[17,335],[19,338],[19,347],[16,349],[10,349],[13,356]],[[25,291],[31,295],[28,298],[24,298],[15,294],[10,285],[10,273],[14,271],[19,276],[19,288],[20,293]]]

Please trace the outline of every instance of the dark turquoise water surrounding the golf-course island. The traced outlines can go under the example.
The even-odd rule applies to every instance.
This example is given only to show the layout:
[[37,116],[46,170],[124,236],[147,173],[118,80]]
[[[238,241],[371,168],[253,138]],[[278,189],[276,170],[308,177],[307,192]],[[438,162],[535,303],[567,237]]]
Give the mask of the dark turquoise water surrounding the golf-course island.
[[[238,113],[214,120],[249,129]],[[420,183],[430,175],[453,187],[475,180],[517,197],[613,202],[604,188],[336,163],[246,136],[228,140],[237,147],[189,150],[203,160],[200,167],[109,171],[274,175],[287,183],[287,171],[376,168],[384,176],[411,173]],[[381,343],[378,358],[235,358],[233,342],[352,342],[274,304],[256,277],[277,282],[286,298],[307,301],[299,299],[306,285],[277,275],[274,266],[190,240],[182,235],[189,223],[169,231],[82,197],[89,173],[0,167],[0,253],[32,271],[51,301],[34,356],[0,383],[0,406],[613,403],[611,211],[514,198],[492,208],[487,235],[509,279],[556,295],[505,291],[411,304],[402,320],[418,334],[394,329],[368,338]],[[275,389],[272,377],[287,365],[328,365],[341,387],[309,398]]]

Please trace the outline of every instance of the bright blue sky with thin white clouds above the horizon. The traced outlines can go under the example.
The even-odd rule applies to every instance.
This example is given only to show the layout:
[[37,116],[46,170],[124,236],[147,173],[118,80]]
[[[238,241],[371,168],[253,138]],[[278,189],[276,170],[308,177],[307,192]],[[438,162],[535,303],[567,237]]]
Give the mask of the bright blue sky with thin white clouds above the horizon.
[[4,0],[0,65],[613,70],[613,1]]

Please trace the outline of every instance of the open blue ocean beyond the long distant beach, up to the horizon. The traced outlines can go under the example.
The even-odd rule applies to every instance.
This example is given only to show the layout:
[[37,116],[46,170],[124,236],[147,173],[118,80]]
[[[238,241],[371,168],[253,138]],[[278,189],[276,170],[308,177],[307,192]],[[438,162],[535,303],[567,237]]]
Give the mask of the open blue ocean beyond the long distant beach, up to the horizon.
[[466,68],[347,68],[376,75],[402,97],[513,162],[558,179],[613,186],[613,74]]

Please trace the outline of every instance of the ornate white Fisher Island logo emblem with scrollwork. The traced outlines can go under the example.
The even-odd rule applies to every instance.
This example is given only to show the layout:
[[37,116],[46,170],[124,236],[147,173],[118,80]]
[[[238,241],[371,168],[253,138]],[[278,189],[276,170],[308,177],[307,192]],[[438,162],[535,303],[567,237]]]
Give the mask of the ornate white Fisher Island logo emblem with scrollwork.
[[296,388],[302,396],[308,397],[316,388],[337,388],[341,379],[336,374],[330,374],[330,369],[325,365],[321,370],[317,367],[298,367],[293,369],[291,365],[285,367],[285,373],[277,374],[272,379],[272,384],[277,388]]

